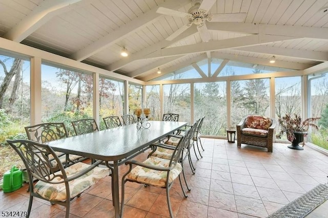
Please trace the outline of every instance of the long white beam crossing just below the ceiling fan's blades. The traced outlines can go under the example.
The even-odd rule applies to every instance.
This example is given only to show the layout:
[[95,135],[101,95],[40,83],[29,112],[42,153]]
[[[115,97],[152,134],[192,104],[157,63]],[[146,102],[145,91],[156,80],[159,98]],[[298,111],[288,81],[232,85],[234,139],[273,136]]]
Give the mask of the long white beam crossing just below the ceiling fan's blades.
[[284,41],[290,39],[295,39],[295,37],[267,35],[267,34],[249,35],[249,36],[223,39],[219,41],[202,42],[195,45],[163,48],[160,51],[156,51],[155,53],[152,53],[151,55],[149,55],[149,57],[145,56],[145,58],[168,57],[168,56],[175,56],[175,55],[182,55],[182,54],[203,53],[203,52],[217,51],[222,49],[233,49],[239,47],[263,45],[266,43],[271,43],[275,41]]

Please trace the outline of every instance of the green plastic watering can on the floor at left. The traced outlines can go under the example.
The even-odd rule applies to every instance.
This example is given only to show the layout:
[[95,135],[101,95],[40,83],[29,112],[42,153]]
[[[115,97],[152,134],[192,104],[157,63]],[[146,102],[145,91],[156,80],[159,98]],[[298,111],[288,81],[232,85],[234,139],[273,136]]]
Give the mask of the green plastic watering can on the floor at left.
[[16,166],[12,166],[11,170],[4,173],[4,184],[2,189],[4,192],[12,192],[23,186],[22,171]]

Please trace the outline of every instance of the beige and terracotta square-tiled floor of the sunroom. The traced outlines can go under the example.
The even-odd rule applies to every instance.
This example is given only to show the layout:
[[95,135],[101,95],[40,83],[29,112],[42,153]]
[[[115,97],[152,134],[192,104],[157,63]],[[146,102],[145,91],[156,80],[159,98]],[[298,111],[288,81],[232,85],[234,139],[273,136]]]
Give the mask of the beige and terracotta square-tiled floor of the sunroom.
[[[176,217],[266,217],[319,183],[327,182],[328,157],[304,147],[292,150],[286,144],[266,149],[227,140],[202,138],[203,158],[193,162],[192,175],[186,164],[191,191],[183,198],[178,181],[170,190]],[[193,154],[193,152],[192,152]],[[144,160],[147,156],[137,157]],[[120,173],[127,170],[120,167]],[[0,192],[1,211],[27,210],[27,185],[11,193]],[[113,217],[110,177],[88,189],[71,204],[70,217]],[[30,217],[64,217],[65,208],[35,199]],[[316,217],[326,217],[326,210]],[[166,190],[126,184],[125,217],[168,217]]]

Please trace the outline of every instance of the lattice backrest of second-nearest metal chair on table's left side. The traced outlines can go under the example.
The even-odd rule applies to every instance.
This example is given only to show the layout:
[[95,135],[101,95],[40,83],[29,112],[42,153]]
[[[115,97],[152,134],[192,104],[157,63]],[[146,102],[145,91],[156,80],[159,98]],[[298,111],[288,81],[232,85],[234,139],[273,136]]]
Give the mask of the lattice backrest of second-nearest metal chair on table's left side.
[[27,138],[39,143],[54,141],[68,137],[68,131],[64,123],[40,123],[26,126]]

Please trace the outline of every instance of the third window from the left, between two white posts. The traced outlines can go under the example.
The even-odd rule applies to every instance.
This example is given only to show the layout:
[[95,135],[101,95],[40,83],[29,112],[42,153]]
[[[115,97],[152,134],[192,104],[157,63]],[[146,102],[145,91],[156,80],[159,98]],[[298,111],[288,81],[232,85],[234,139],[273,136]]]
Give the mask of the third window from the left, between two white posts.
[[105,129],[104,117],[120,116],[124,112],[124,82],[99,78],[100,129]]

